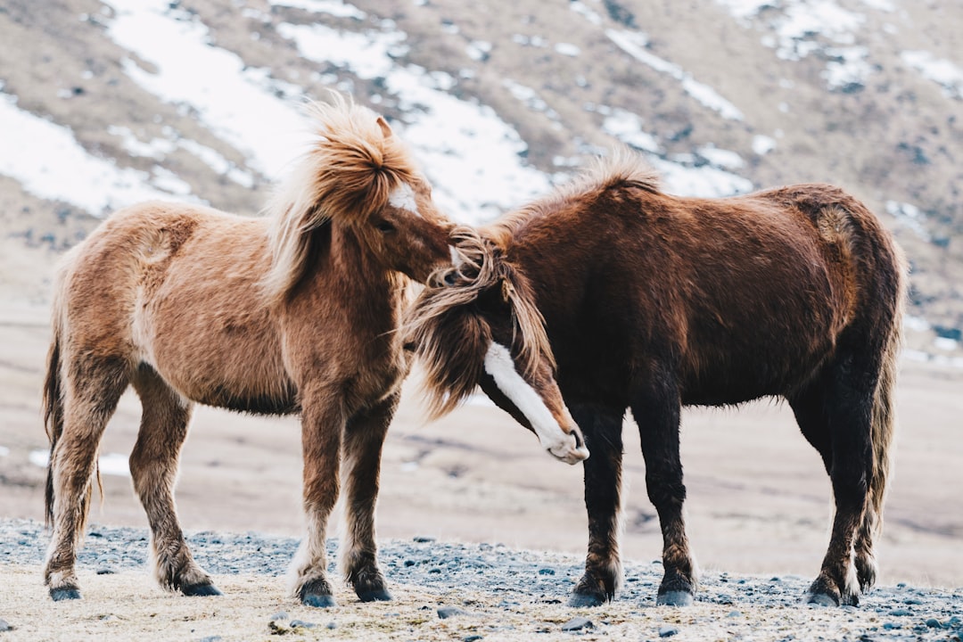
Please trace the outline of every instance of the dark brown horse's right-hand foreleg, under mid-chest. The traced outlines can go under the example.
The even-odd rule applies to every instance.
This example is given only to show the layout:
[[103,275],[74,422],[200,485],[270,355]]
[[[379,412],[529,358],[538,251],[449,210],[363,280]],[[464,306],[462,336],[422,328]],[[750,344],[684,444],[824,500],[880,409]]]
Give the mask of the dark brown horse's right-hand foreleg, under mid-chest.
[[673,606],[691,604],[697,587],[683,518],[686,486],[679,457],[680,413],[679,397],[670,391],[640,395],[632,404],[645,458],[645,485],[663,533],[664,576],[656,603]]

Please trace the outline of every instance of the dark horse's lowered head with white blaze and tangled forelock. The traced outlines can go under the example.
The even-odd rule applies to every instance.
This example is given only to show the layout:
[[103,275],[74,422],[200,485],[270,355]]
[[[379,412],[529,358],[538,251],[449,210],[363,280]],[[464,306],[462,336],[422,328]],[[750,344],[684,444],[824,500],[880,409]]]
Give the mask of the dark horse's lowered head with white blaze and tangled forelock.
[[561,397],[528,280],[476,230],[458,227],[452,238],[452,266],[432,275],[405,323],[432,416],[454,410],[478,385],[554,457],[583,461],[585,439]]

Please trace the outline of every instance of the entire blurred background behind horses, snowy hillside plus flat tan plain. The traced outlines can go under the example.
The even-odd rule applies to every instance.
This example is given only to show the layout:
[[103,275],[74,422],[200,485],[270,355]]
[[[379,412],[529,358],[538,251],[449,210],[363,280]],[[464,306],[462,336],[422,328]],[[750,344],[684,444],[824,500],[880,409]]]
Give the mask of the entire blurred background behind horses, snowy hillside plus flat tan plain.
[[[256,216],[309,141],[304,101],[334,89],[389,118],[465,222],[623,144],[671,193],[821,181],[863,199],[913,270],[884,581],[958,586],[961,27],[950,0],[0,0],[0,516],[42,519],[59,256],[147,198]],[[418,403],[405,393],[385,445],[381,536],[584,551],[578,467],[481,396],[434,424]],[[95,521],[145,526],[126,466],[139,417],[125,395]],[[651,559],[662,535],[630,424],[623,552]],[[684,425],[700,561],[814,572],[831,489],[789,408],[687,409]],[[300,534],[299,436],[297,418],[198,408],[184,526]]]

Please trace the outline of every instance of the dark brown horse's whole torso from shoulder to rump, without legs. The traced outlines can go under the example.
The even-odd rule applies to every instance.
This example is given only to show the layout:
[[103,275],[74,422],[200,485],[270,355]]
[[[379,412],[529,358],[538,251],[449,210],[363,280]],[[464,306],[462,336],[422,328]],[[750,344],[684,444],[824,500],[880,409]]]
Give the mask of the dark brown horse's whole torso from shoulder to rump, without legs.
[[898,308],[895,245],[830,186],[610,191],[560,205],[515,244],[540,284],[566,397],[613,405],[665,372],[686,403],[785,395],[847,336],[882,335]]

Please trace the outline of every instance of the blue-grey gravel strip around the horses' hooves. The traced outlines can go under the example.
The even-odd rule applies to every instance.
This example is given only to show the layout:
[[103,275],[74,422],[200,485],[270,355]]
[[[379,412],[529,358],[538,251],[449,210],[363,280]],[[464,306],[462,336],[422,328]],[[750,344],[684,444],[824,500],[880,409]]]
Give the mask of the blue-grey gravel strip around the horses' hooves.
[[[48,541],[48,534],[37,522],[0,520],[0,569],[39,565]],[[203,568],[215,576],[228,578],[281,576],[298,546],[298,540],[293,538],[253,532],[197,532],[189,536],[189,541],[195,559]],[[336,559],[335,548],[335,542],[328,543],[332,560]],[[93,525],[80,552],[79,568],[98,575],[136,572],[149,576],[146,556],[146,530]],[[488,620],[502,623],[500,630],[494,624],[485,628],[476,622],[478,626],[473,625],[472,630],[480,633],[460,637],[457,632],[454,636],[431,637],[412,628],[407,631],[410,637],[384,639],[529,639],[530,634],[538,633],[636,640],[676,635],[676,639],[711,639],[715,635],[716,639],[773,641],[963,639],[963,588],[900,583],[875,588],[858,608],[820,608],[800,603],[809,578],[704,572],[695,605],[672,609],[655,606],[656,589],[662,577],[658,561],[627,562],[625,584],[612,604],[599,609],[567,609],[565,601],[581,574],[582,561],[574,555],[515,551],[500,544],[437,542],[430,537],[382,541],[380,563],[396,598],[405,587],[418,587],[424,591],[419,593],[419,599],[439,598],[421,606],[422,610],[436,610],[438,621],[449,616],[473,617],[469,616],[472,612],[478,617],[477,614],[483,612]],[[0,597],[4,592],[2,583]],[[220,585],[221,580],[218,583]],[[272,579],[271,583],[280,586],[284,580]],[[339,602],[346,602],[344,595],[339,596]],[[4,612],[2,604],[0,602],[0,619],[13,622],[17,614]],[[534,622],[546,612],[553,614],[547,627],[544,622]],[[517,623],[519,616],[522,624],[505,624]],[[568,619],[560,622],[562,617]],[[524,631],[526,618],[534,622],[528,632]],[[631,624],[632,618],[645,621],[648,626],[626,629],[623,625]],[[717,622],[710,622],[713,620]],[[716,633],[707,637],[706,627],[710,624],[715,627],[710,630]],[[284,626],[290,627],[291,622]],[[523,630],[512,636],[506,633],[505,627]],[[283,628],[281,625],[269,627],[273,633]],[[0,632],[0,642],[10,634]],[[382,639],[377,636],[371,639],[376,638]],[[552,635],[539,639],[550,638],[554,639]]]

